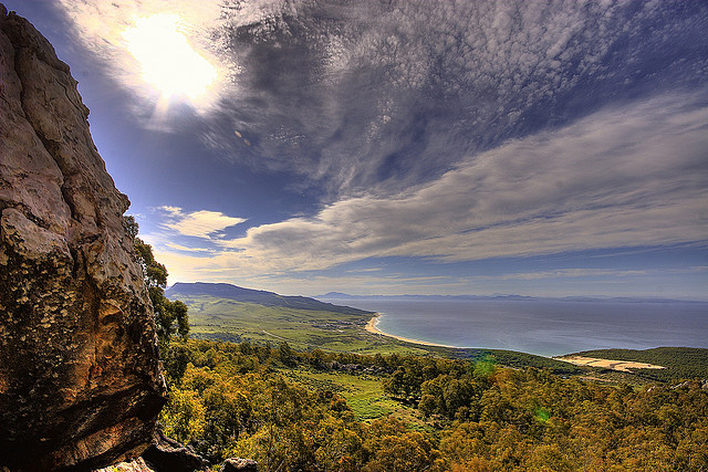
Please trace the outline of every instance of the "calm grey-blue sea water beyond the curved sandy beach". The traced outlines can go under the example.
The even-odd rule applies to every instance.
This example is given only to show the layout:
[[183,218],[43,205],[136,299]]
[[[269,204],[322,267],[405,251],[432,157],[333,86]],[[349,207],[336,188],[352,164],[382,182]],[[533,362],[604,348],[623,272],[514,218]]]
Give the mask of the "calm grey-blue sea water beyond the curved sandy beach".
[[708,303],[327,300],[382,313],[378,328],[458,347],[558,356],[586,349],[708,347]]

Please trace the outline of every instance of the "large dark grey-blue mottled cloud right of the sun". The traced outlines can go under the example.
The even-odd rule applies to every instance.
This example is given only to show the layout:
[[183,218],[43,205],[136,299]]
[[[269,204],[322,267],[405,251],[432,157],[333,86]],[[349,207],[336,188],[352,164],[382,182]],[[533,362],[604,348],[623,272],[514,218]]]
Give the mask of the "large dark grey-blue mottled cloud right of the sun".
[[334,195],[397,191],[607,104],[705,84],[708,70],[698,1],[252,10],[225,6],[211,32],[235,73],[206,139]]

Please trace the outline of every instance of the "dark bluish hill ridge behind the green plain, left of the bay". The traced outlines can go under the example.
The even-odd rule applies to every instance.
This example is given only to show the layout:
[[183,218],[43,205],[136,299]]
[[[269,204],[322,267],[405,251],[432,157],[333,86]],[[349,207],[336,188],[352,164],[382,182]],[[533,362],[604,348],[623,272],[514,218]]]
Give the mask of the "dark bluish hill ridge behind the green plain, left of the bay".
[[316,310],[324,312],[344,313],[346,315],[371,315],[373,312],[352,308],[351,306],[334,305],[332,303],[320,302],[306,296],[284,296],[274,292],[262,290],[243,289],[227,283],[181,283],[177,282],[165,291],[165,295],[170,298],[180,296],[209,295],[217,298],[233,300],[241,303],[257,303],[264,306],[283,306],[296,310]]

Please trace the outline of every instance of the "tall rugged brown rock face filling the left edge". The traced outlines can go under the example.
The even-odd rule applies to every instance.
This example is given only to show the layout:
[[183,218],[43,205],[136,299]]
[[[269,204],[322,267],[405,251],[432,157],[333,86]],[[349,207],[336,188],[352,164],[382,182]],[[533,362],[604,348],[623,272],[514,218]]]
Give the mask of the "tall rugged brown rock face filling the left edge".
[[0,469],[139,454],[165,401],[153,312],[69,66],[0,4]]

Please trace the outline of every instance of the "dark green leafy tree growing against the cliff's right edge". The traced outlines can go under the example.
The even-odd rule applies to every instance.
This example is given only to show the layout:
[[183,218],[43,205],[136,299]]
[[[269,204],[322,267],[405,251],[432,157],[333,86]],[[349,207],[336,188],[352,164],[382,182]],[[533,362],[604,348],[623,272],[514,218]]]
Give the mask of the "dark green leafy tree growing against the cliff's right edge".
[[187,305],[178,300],[170,302],[165,296],[167,268],[155,260],[153,247],[137,237],[138,224],[135,218],[132,216],[125,217],[125,229],[133,239],[135,255],[143,270],[143,279],[145,280],[147,293],[153,304],[153,311],[155,312],[155,325],[157,327],[160,352],[163,358],[165,358],[171,336],[177,334],[184,340],[189,335]]

